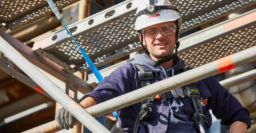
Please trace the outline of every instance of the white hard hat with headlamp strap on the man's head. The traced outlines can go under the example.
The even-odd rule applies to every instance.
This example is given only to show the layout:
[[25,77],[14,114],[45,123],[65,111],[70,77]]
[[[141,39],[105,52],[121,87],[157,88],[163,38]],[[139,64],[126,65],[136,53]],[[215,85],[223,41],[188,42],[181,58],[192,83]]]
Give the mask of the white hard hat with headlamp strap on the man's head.
[[[150,0],[141,0],[142,2],[138,5],[138,9],[136,14],[144,9],[150,10],[149,8],[149,1]],[[168,0],[152,0],[155,6],[172,6],[172,4]],[[151,2],[152,2],[151,1]],[[171,7],[174,8],[174,7]],[[151,6],[152,9],[152,6]],[[176,8],[175,8],[176,9]],[[177,9],[176,9],[177,10]],[[141,30],[148,26],[159,24],[168,21],[175,21],[178,19],[178,26],[181,27],[181,16],[179,15],[178,10],[169,10],[169,9],[162,9],[160,11],[155,11],[153,13],[141,14],[136,16],[135,19],[135,30]]]

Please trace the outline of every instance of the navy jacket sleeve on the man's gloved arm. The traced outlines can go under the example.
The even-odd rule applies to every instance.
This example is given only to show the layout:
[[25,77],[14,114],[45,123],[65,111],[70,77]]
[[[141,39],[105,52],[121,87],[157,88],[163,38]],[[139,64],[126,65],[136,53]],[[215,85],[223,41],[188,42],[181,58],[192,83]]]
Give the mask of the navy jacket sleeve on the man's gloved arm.
[[86,97],[93,97],[98,103],[101,103],[130,92],[131,86],[135,82],[135,70],[136,68],[131,63],[118,67],[109,76],[103,78],[92,92],[85,94],[79,102]]

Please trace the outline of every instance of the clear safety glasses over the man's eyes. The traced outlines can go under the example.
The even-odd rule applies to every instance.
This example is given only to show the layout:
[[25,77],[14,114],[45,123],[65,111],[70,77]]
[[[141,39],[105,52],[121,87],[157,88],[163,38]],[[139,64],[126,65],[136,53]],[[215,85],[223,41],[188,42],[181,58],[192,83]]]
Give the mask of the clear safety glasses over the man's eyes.
[[161,31],[163,35],[168,36],[175,33],[176,25],[171,23],[171,24],[165,24],[159,27],[150,26],[142,29],[141,33],[143,36],[147,38],[154,38],[157,35],[158,31]]

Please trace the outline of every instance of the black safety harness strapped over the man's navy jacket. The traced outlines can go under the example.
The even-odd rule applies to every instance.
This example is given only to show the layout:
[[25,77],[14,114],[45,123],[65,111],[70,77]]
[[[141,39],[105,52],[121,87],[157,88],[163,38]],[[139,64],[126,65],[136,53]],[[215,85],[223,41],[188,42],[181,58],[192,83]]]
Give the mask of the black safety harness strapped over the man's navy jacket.
[[[151,71],[145,72],[142,65],[139,65],[139,64],[134,64],[134,65],[138,70],[138,77],[139,77],[139,80],[141,81],[141,87],[150,85],[150,80],[153,79],[152,72]],[[183,69],[185,71],[188,70],[185,67]],[[204,124],[206,124],[208,127],[209,122],[208,122],[207,116],[203,114],[202,106],[199,100],[200,92],[197,88],[197,84],[198,84],[198,81],[188,84],[186,86],[173,89],[169,92],[165,92],[163,94],[157,95],[155,98],[156,99],[171,99],[171,98],[183,99],[185,97],[188,97],[189,99],[192,99],[192,105],[194,107],[195,113],[191,119],[195,123],[194,125],[196,129],[201,133],[203,133],[205,132],[203,128]],[[140,102],[141,111],[137,115],[137,118],[135,121],[134,130],[133,130],[134,133],[137,133],[140,121],[145,120],[149,116],[149,113],[152,112],[153,106],[152,106],[152,103],[150,103],[150,101],[153,101],[153,100],[154,98],[150,98]]]

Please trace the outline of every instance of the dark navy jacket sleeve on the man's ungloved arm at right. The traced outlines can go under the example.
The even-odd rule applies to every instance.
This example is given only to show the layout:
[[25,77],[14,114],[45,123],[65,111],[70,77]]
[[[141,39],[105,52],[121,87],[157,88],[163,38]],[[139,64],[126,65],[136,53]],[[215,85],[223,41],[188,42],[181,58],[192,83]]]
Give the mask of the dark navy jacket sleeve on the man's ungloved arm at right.
[[249,111],[213,76],[206,78],[205,82],[212,95],[209,98],[212,113],[217,119],[221,119],[221,124],[231,125],[235,121],[241,121],[247,123],[247,128],[250,128]]

